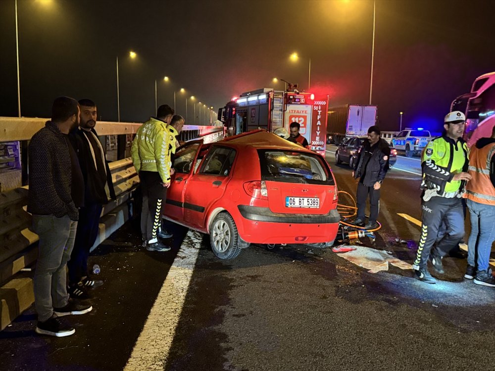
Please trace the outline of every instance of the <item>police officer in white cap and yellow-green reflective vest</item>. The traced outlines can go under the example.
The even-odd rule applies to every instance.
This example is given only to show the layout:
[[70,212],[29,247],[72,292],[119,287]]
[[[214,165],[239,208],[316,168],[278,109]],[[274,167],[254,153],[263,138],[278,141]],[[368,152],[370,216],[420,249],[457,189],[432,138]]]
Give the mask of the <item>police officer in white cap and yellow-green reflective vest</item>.
[[[443,274],[442,258],[464,236],[461,197],[464,185],[471,179],[467,173],[467,145],[462,139],[465,121],[460,111],[448,113],[444,120],[445,134],[430,141],[422,155],[421,238],[412,267],[415,278],[427,283],[436,283],[428,272],[428,259]],[[444,221],[447,231],[432,249]]]

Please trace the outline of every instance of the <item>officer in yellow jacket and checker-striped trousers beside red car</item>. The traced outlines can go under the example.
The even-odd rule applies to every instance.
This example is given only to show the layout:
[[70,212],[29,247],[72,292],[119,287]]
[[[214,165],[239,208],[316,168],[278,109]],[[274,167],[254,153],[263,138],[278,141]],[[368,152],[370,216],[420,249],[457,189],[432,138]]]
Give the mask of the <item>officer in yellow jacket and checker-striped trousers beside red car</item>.
[[[151,117],[136,133],[132,142],[132,162],[136,168],[143,192],[141,233],[148,251],[168,251],[170,247],[158,241],[162,205],[170,186],[170,135],[167,125],[174,109],[167,104],[158,107],[156,118]],[[175,143],[174,143],[175,144]]]

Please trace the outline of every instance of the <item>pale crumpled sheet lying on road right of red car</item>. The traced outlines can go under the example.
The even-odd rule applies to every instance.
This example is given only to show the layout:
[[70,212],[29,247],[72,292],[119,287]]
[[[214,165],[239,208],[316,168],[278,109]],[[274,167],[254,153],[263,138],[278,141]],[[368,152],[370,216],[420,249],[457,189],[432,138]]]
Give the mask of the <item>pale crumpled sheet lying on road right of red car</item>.
[[349,245],[349,247],[355,248],[355,250],[338,255],[358,267],[367,269],[370,273],[388,271],[390,264],[400,269],[412,270],[411,264],[397,259],[388,251],[375,250],[371,247],[359,245]]

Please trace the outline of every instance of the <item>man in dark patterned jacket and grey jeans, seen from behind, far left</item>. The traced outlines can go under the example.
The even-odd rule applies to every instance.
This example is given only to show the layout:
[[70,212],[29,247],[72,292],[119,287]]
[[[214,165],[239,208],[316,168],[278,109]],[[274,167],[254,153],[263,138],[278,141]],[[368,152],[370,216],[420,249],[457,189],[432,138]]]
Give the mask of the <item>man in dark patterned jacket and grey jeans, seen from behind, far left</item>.
[[78,208],[84,204],[84,181],[68,134],[79,124],[79,105],[62,96],[54,100],[51,121],[29,143],[27,211],[38,234],[34,274],[36,332],[69,336],[74,327],[61,317],[90,312],[90,305],[69,301],[66,264],[76,236]]

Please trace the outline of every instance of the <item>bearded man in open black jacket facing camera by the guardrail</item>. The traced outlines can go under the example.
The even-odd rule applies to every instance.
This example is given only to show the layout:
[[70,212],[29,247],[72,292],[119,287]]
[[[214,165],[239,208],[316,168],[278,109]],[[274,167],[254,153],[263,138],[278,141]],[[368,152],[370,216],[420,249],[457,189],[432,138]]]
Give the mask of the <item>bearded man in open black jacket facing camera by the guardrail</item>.
[[79,128],[71,132],[69,138],[74,146],[84,178],[84,206],[79,210],[76,240],[70,260],[69,295],[87,299],[87,288],[101,286],[103,281],[89,278],[88,255],[95,244],[99,231],[99,217],[104,204],[108,203],[107,189],[115,199],[112,175],[105,161],[103,146],[95,131],[97,107],[90,99],[79,100],[81,109]]

